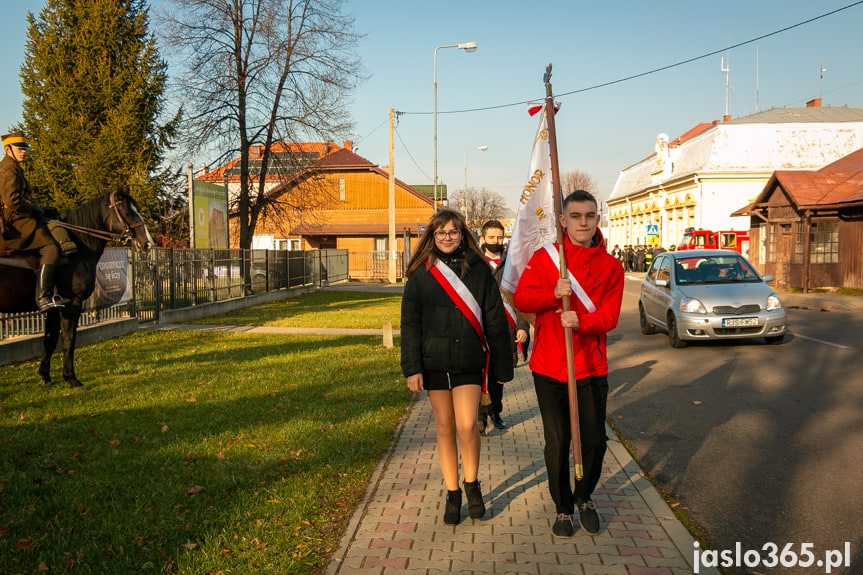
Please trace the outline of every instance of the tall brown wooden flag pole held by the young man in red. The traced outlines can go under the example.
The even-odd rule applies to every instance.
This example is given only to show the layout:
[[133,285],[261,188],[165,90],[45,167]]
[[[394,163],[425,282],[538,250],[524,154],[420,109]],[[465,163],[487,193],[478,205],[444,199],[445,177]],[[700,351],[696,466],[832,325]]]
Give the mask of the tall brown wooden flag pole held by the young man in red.
[[[554,129],[554,97],[551,94],[551,64],[545,69],[545,114],[548,121],[548,142],[551,148],[551,181],[554,197],[554,223],[557,226],[558,257],[560,258],[560,279],[566,279],[566,255],[564,254],[563,226],[560,223],[562,194],[560,189],[560,167],[557,160],[557,134]],[[569,295],[563,296],[563,311],[570,311]],[[572,350],[572,328],[563,328],[563,341],[566,346],[566,383],[569,392],[569,424],[572,432],[572,461],[576,481],[584,477],[581,458],[581,429],[578,423],[578,397],[575,385],[575,357]]]

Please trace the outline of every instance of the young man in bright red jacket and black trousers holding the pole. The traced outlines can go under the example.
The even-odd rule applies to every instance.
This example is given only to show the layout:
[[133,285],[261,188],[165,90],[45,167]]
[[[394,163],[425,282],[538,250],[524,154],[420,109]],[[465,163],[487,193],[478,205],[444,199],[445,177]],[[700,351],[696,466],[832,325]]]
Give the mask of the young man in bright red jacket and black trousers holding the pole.
[[[599,483],[605,456],[605,409],[608,399],[608,356],[605,343],[617,327],[623,299],[623,266],[606,251],[597,230],[596,199],[579,190],[563,201],[560,216],[566,234],[564,253],[568,279],[560,279],[558,245],[533,254],[515,291],[515,307],[536,314],[534,348],[530,359],[536,398],[545,433],[548,487],[557,508],[552,532],[571,537],[572,515],[578,506],[581,527],[599,532],[599,515],[591,500]],[[570,296],[571,311],[561,298]],[[573,491],[569,468],[572,442],[566,377],[564,327],[572,328],[575,378],[584,477]]]

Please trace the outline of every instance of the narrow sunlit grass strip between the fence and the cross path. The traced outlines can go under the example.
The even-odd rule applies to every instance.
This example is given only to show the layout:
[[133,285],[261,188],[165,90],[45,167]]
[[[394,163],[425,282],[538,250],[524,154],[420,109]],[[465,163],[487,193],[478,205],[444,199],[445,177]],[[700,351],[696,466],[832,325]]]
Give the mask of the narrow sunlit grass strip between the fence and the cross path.
[[388,320],[398,329],[401,301],[401,294],[318,291],[191,323],[380,329]]

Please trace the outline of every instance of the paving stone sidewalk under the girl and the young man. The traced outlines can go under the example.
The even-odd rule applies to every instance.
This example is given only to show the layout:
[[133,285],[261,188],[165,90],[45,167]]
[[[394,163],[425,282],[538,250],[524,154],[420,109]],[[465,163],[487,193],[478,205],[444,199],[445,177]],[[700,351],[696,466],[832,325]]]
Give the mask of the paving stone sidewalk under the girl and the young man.
[[[432,410],[427,396],[418,396],[327,573],[693,573],[693,538],[639,474],[611,429],[594,494],[602,518],[600,533],[578,531],[570,539],[555,538],[542,422],[527,365],[518,367],[515,379],[506,384],[504,418],[507,429],[494,429],[482,438],[479,480],[486,516],[478,521],[468,518],[465,504],[462,522],[445,525],[445,487],[435,453]],[[704,567],[700,573],[718,574]]]

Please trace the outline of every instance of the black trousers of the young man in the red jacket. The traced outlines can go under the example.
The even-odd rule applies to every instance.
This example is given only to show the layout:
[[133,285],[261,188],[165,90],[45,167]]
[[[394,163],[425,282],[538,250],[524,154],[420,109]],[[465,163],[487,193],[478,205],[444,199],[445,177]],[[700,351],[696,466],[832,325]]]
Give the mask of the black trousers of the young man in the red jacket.
[[576,382],[578,397],[581,457],[584,477],[575,482],[569,467],[572,433],[569,423],[569,394],[565,381],[533,374],[533,385],[545,434],[545,466],[548,489],[557,513],[572,515],[576,501],[590,498],[602,474],[605,457],[605,410],[608,402],[608,376],[597,375]]

